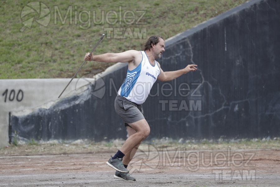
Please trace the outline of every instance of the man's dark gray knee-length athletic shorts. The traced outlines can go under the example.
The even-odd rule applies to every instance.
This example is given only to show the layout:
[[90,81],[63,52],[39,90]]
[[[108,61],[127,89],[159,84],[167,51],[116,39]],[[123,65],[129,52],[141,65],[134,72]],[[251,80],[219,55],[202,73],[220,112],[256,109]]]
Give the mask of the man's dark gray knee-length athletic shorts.
[[128,101],[126,98],[117,95],[115,99],[115,111],[124,120],[124,126],[145,119],[142,104]]

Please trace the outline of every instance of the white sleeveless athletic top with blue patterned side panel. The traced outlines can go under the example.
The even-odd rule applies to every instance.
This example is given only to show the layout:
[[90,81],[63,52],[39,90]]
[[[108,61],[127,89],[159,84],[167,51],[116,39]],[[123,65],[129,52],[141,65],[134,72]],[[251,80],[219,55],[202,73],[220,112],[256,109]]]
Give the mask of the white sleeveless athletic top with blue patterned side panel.
[[155,61],[155,66],[152,66],[145,51],[141,51],[141,53],[141,63],[134,70],[127,70],[125,81],[118,91],[120,96],[136,104],[142,104],[146,101],[157,76],[160,74],[157,61]]

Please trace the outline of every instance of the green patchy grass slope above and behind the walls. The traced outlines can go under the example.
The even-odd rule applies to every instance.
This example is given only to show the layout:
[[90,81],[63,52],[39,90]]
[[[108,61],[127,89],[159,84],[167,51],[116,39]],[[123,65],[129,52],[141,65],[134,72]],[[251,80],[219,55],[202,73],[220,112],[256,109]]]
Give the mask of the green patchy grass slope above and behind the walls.
[[[164,38],[169,38],[236,7],[246,0],[155,0],[153,2],[147,0],[108,0],[106,2],[95,0],[91,1],[90,4],[87,1],[73,0],[41,1],[50,10],[51,20],[48,26],[44,27],[34,21],[31,29],[26,28],[21,32],[23,21],[30,17],[37,20],[40,16],[33,12],[21,19],[21,11],[29,2],[31,1],[1,1],[0,79],[70,78],[82,64],[84,54],[91,51],[101,34],[107,34],[106,28],[120,28],[124,31],[127,29],[131,29],[131,31],[147,29],[147,36],[140,39],[135,38],[136,35],[134,38],[117,39],[111,33],[111,38],[105,38],[96,49],[95,54],[122,52],[131,49],[140,50],[147,37],[151,35],[159,34]],[[55,6],[59,8],[62,20],[60,20],[58,12],[55,11]],[[70,6],[72,6],[72,17],[70,13],[66,16]],[[118,15],[116,19],[109,20],[110,22],[117,20],[114,24],[109,24],[106,21],[106,13],[110,10],[115,11]],[[146,11],[143,17],[141,17],[142,13],[137,12],[140,10]],[[90,18],[90,26],[82,23],[89,20],[87,13],[81,14],[82,11],[91,11],[92,15],[95,12],[94,16]],[[97,23],[102,18],[102,11],[105,12],[105,21]],[[135,21],[131,20],[133,24],[124,22],[123,14],[125,11],[134,13]],[[56,23],[55,12],[57,12]],[[133,15],[127,14],[126,16]],[[136,23],[140,17],[140,22],[146,24]],[[64,18],[65,22],[63,23]],[[74,24],[75,20],[77,20],[76,24]],[[81,28],[87,26],[88,29]],[[78,77],[99,73],[110,65],[88,62]]]

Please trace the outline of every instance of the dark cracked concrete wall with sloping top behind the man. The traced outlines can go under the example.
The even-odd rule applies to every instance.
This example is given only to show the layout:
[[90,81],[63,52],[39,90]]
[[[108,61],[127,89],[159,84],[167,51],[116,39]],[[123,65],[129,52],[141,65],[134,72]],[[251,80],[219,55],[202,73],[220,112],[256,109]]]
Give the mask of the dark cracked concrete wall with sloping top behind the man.
[[[149,138],[279,137],[279,10],[278,0],[249,1],[166,41],[159,60],[164,71],[188,64],[197,64],[199,70],[167,82],[163,88],[171,87],[171,91],[162,90],[164,83],[156,82],[151,93],[159,95],[143,104],[151,127]],[[91,94],[75,104],[78,96],[74,96],[49,109],[12,116],[13,131],[44,140],[126,138],[123,122],[114,111],[116,93],[109,86],[111,79],[119,89],[125,78],[127,66],[118,67],[103,77],[102,99]],[[190,87],[180,87],[188,96],[179,94],[182,83]]]

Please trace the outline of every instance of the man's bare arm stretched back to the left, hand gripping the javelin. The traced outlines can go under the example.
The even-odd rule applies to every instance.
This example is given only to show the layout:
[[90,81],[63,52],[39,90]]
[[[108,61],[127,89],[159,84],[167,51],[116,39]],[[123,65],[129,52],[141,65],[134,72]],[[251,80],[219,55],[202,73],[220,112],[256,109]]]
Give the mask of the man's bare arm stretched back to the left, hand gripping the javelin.
[[122,53],[105,53],[102,55],[92,55],[89,56],[90,53],[86,53],[85,60],[86,61],[97,61],[97,62],[133,62],[135,57],[138,55],[139,51],[137,50],[128,50]]

